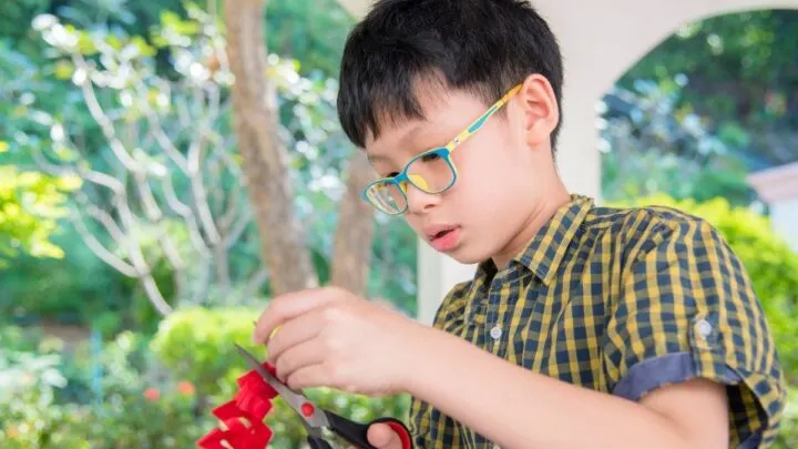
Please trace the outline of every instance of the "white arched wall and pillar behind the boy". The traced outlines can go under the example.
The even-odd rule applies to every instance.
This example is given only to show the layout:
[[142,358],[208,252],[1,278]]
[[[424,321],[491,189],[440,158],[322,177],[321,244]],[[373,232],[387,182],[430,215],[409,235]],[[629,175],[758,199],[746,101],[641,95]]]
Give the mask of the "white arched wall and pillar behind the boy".
[[[370,0],[340,0],[361,17]],[[559,37],[565,62],[559,167],[572,192],[600,192],[596,104],[613,82],[682,24],[725,12],[798,9],[798,0],[540,0],[534,6]],[[419,319],[430,323],[462,266],[419,243]]]

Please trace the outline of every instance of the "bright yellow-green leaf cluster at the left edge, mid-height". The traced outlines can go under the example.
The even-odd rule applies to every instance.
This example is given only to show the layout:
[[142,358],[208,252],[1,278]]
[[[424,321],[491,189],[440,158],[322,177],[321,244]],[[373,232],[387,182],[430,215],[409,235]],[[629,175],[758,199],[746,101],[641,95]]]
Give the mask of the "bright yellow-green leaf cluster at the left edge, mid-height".
[[[8,145],[0,142],[0,152]],[[54,177],[0,166],[0,267],[20,252],[63,257],[51,242],[58,220],[66,214],[65,193],[80,186],[73,176]]]

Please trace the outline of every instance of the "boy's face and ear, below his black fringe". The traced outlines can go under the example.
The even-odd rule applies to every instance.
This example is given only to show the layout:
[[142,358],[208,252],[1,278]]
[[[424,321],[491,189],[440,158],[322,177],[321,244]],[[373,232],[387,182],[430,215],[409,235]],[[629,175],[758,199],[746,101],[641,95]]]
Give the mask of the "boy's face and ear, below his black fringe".
[[[449,166],[439,154],[490,108],[477,96],[458,91],[420,89],[424,120],[381,124],[366,152],[380,177],[396,176],[413,161],[405,183],[405,217],[430,246],[460,263],[511,258],[519,233],[534,218],[555,173],[550,135],[556,125],[556,103],[548,82],[530,76],[493,115],[449,154]],[[497,99],[499,100],[499,99]],[[449,181],[453,184],[449,186]],[[441,193],[426,193],[440,187]],[[439,185],[430,185],[430,184]],[[439,188],[436,188],[439,187]],[[499,261],[497,261],[499,265]]]

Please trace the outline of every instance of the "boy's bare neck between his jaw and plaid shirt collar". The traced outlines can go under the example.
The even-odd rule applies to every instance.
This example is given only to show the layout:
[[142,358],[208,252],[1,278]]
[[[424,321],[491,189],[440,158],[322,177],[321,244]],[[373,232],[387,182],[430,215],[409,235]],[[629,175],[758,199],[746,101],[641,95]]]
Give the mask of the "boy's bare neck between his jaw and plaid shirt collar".
[[504,269],[513,257],[551,221],[556,211],[570,201],[571,195],[562,181],[557,180],[555,183],[552,183],[550,194],[545,195],[541,202],[535,205],[534,211],[530,214],[529,220],[519,229],[518,234],[515,234],[504,249],[492,257],[497,269]]

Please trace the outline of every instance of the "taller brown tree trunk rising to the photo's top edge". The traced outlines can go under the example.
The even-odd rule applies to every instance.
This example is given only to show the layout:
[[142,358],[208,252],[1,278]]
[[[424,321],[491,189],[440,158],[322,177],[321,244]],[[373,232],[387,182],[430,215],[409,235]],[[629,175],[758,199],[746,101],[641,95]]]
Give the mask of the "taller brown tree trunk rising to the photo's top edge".
[[272,290],[278,295],[313,287],[317,277],[294,214],[285,149],[277,134],[275,92],[266,79],[265,1],[225,0],[224,4],[235,75],[234,125]]

